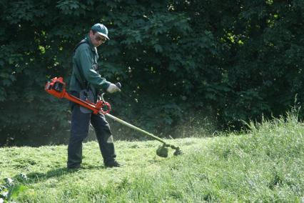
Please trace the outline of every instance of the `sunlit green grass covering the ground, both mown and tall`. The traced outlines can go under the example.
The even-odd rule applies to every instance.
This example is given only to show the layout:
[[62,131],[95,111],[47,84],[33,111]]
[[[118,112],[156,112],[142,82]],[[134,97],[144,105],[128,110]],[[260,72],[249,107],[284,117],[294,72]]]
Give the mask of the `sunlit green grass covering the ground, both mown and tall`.
[[167,140],[183,150],[178,157],[172,149],[168,158],[157,157],[156,141],[118,141],[118,161],[124,166],[115,169],[103,167],[96,142],[83,144],[80,170],[66,169],[66,146],[2,148],[2,199],[303,202],[304,125],[289,115],[287,121],[249,126],[250,132],[243,134]]

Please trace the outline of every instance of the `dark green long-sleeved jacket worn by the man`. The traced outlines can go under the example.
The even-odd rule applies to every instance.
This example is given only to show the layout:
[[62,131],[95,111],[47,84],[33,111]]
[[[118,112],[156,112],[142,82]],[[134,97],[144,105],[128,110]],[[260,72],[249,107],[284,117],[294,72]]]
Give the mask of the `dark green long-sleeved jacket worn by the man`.
[[79,45],[74,52],[69,90],[79,92],[81,89],[86,89],[87,81],[96,97],[100,89],[105,91],[111,83],[96,71],[98,67],[97,49],[91,43],[89,36],[86,36],[85,40],[86,43]]

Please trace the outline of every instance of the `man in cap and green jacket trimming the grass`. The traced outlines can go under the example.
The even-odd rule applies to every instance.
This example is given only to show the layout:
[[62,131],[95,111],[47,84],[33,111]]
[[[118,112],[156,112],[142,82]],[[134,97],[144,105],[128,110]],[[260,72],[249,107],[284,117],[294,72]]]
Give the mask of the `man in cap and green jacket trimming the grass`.
[[[95,24],[74,49],[73,72],[69,90],[81,99],[96,102],[100,89],[113,93],[121,91],[118,86],[106,81],[97,73],[98,54],[96,47],[108,40],[108,29],[103,24]],[[93,125],[105,167],[120,167],[116,162],[111,129],[102,114],[91,114],[78,104],[71,104],[71,136],[68,147],[69,169],[78,169],[82,161],[82,142],[88,136],[90,122]]]

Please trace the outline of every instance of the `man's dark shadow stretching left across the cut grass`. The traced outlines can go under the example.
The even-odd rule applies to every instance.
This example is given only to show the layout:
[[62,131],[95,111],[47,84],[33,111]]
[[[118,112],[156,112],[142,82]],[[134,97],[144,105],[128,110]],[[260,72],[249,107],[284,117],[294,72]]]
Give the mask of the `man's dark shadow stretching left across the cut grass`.
[[[77,172],[81,172],[81,170],[90,170],[90,169],[105,169],[103,166],[93,166],[93,165],[86,165],[79,169],[67,169],[66,167],[58,168],[58,169],[51,169],[46,173],[41,172],[32,172],[29,174],[26,174],[26,181],[23,180],[21,182],[26,182],[27,184],[37,183],[37,182],[44,182],[47,179],[53,178],[53,177],[62,177],[69,174],[74,174]],[[20,174],[17,174],[14,179],[20,180]]]

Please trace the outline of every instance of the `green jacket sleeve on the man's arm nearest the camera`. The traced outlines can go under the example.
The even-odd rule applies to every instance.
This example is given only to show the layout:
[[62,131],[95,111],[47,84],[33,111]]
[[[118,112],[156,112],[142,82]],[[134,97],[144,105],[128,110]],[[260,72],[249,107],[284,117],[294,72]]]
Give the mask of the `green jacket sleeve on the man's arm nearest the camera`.
[[79,52],[78,59],[86,81],[98,89],[106,90],[111,82],[106,81],[105,78],[101,77],[101,75],[95,71],[93,61],[88,54],[88,50],[81,50]]

